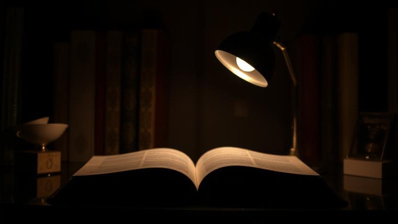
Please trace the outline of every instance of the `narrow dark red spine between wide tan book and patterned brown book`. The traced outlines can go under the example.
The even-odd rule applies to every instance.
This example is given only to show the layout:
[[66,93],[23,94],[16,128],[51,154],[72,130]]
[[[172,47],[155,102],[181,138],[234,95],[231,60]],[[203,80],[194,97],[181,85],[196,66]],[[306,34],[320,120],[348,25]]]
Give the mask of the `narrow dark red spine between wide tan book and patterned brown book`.
[[104,155],[105,133],[105,69],[106,69],[106,35],[105,31],[97,32],[96,50],[96,117],[95,117],[95,155]]

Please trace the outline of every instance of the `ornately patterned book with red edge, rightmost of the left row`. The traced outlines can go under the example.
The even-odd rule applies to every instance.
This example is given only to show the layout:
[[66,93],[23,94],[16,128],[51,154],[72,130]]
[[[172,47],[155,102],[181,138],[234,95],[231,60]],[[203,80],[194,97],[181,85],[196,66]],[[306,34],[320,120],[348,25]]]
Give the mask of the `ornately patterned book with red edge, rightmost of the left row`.
[[165,36],[161,29],[143,29],[139,90],[138,149],[167,144],[167,83]]

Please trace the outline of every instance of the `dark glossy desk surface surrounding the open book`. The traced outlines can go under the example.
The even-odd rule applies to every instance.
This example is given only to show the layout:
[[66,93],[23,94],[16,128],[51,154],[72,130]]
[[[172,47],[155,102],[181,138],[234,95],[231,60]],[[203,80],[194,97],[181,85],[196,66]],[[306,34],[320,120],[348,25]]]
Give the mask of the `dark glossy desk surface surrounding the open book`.
[[[50,212],[57,214],[60,211],[73,210],[74,213],[86,214],[88,211],[95,210],[97,213],[106,212],[120,213],[128,208],[62,208],[51,206],[46,203],[46,199],[55,190],[62,186],[66,181],[82,166],[80,163],[63,163],[61,172],[51,175],[33,176],[17,175],[14,167],[2,167],[0,192],[0,205],[4,214],[8,211],[34,212],[42,214]],[[397,186],[391,180],[381,180],[372,178],[363,178],[355,176],[342,175],[342,172],[329,172],[322,175],[322,178],[328,185],[336,191],[342,198],[348,202],[348,206],[338,210],[270,210],[270,209],[223,209],[223,208],[131,208],[128,214],[143,215],[150,212],[155,217],[169,215],[187,215],[187,216],[258,216],[272,215],[285,216],[287,213],[293,215],[310,215],[313,212],[317,214],[368,214],[368,215],[393,215],[398,212],[398,200],[396,193]]]

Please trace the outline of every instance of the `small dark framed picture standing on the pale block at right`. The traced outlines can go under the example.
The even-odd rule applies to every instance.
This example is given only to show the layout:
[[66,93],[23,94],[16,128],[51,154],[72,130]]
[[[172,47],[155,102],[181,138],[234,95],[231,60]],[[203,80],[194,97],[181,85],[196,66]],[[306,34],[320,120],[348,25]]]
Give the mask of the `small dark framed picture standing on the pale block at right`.
[[393,113],[359,113],[348,157],[377,161],[385,159],[394,119]]

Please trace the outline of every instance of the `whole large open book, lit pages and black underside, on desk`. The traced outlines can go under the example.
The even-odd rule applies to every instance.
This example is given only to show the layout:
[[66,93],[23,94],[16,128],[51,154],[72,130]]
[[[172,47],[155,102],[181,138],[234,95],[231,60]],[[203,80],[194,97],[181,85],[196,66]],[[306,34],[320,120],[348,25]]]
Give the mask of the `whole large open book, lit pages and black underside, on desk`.
[[129,207],[341,207],[345,202],[296,156],[219,147],[195,164],[155,148],[93,156],[47,199],[50,204]]

